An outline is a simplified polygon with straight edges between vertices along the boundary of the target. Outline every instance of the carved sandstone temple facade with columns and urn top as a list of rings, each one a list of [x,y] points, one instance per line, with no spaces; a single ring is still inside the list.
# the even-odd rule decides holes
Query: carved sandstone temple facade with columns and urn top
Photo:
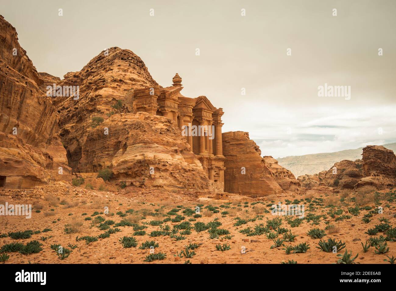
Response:
[[[221,127],[223,108],[214,107],[208,98],[183,96],[179,74],[169,87],[146,87],[133,92],[133,112],[165,116],[179,127],[181,134],[201,162],[214,192],[224,191],[224,161]]]

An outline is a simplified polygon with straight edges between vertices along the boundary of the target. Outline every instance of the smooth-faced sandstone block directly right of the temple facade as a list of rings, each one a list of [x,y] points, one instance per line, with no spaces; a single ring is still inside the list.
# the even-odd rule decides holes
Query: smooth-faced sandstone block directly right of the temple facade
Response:
[[[254,141],[249,139],[249,133],[244,131],[229,131],[222,134],[223,155],[225,161],[225,191],[243,194],[250,197],[262,197],[284,193],[276,181],[276,175],[268,166],[277,169],[278,181],[282,181],[285,188],[289,188],[289,173],[270,163],[267,157],[261,157],[261,150]],[[268,165],[268,166],[267,166]],[[282,173],[282,174],[281,174]],[[285,179],[287,176],[287,179]],[[291,186],[292,187],[292,186]]]

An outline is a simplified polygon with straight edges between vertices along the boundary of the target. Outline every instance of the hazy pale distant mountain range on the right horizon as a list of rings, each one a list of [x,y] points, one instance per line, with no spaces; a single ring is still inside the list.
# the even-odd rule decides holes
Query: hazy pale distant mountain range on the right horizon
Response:
[[[382,145],[389,150],[396,151],[396,143]],[[306,154],[304,156],[288,156],[279,158],[278,164],[290,170],[296,178],[305,174],[316,174],[328,170],[335,162],[342,160],[358,160],[362,158],[363,148],[341,150],[339,152],[324,152],[320,154]]]

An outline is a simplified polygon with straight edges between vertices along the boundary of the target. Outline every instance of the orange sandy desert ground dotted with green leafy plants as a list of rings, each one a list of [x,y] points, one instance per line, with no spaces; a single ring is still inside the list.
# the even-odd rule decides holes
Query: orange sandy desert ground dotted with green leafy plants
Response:
[[[280,264],[289,260],[297,261],[298,264],[332,264],[339,259],[337,253],[327,253],[317,248],[321,239],[327,241],[329,238],[337,241],[341,240],[345,243],[346,247],[339,251],[338,254],[343,255],[345,250],[348,250],[348,252],[352,251],[352,258],[358,254],[354,262],[388,264],[388,262],[384,261],[384,259],[388,259],[386,256],[396,256],[396,243],[392,239],[386,242],[389,250],[383,254],[375,253],[375,245],[370,247],[365,253],[361,244],[366,243],[366,240],[369,240],[370,237],[376,236],[379,238],[381,235],[387,237],[383,231],[371,236],[365,234],[369,228],[376,228],[380,224],[385,224],[383,226],[385,228],[389,227],[386,226],[386,223],[391,226],[390,230],[393,230],[393,232],[388,232],[388,237],[390,233],[395,234],[395,229],[392,228],[396,223],[396,204],[394,201],[396,199],[396,191],[394,190],[382,190],[377,192],[377,195],[374,192],[354,193],[353,191],[330,195],[317,194],[308,197],[282,194],[282,196],[278,197],[265,197],[263,201],[255,201],[252,198],[238,195],[230,195],[227,200],[217,200],[199,197],[196,192],[187,190],[166,191],[128,187],[119,189],[118,192],[104,192],[86,190],[65,184],[59,187],[63,189],[59,193],[66,192],[66,195],[65,193],[59,195],[46,194],[46,187],[42,187],[42,192],[35,196],[36,198],[25,196],[27,198],[4,200],[5,196],[2,196],[3,201],[0,201],[0,204],[8,201],[9,204],[32,204],[34,207],[30,219],[21,216],[0,216],[0,237],[2,237],[0,238],[0,248],[4,250],[7,244],[14,242],[26,244],[31,240],[38,240],[38,242],[42,243],[41,251],[29,255],[5,251],[4,253],[10,256],[5,262],[6,264]],[[29,192],[29,190],[19,191]],[[296,199],[298,201],[295,201]],[[290,204],[304,204],[305,218],[301,221],[296,221],[296,217],[272,215],[271,205],[278,204],[278,202],[282,204],[287,202]],[[356,215],[348,213],[348,207],[355,207],[356,204],[360,204],[359,213],[354,213]],[[383,207],[382,214],[377,213],[375,204],[377,204],[377,207]],[[197,205],[200,207],[200,215],[195,213]],[[211,205],[209,209],[217,213],[209,211],[206,208],[209,205]],[[370,209],[370,207],[366,206],[372,208]],[[105,207],[108,207],[108,214],[106,214],[107,208]],[[370,210],[362,209],[362,207]],[[178,209],[178,211],[169,212],[172,209]],[[331,214],[338,209],[342,209],[342,214]],[[372,214],[369,217],[371,221],[365,223],[362,219],[365,215],[370,216],[367,215],[368,213]],[[169,219],[176,221],[176,215],[182,215],[184,219],[180,222],[167,221]],[[194,215],[196,218],[194,218]],[[103,217],[103,219],[95,219],[98,216]],[[282,219],[282,224],[278,227],[272,227],[271,221],[273,222],[274,219],[275,221]],[[385,221],[383,221],[384,219]],[[128,221],[129,225],[133,226],[117,226],[117,223],[121,221]],[[159,221],[157,222],[159,225],[152,225],[157,224],[156,221]],[[186,226],[188,223],[185,222],[189,222],[190,226]],[[209,222],[221,223],[221,225],[216,228],[214,223],[212,223],[212,227],[208,230],[197,232],[194,229],[194,224],[198,222],[205,223],[206,227],[208,227]],[[296,226],[296,222],[301,223]],[[105,224],[107,223],[110,225],[106,226]],[[246,228],[250,227],[250,234],[254,234],[255,225],[259,224],[262,224],[262,229],[268,225],[268,229],[264,230],[266,233],[247,236],[249,230],[246,230]],[[328,225],[335,226],[331,228],[333,233],[331,233],[331,230],[326,230]],[[145,234],[137,235],[133,230],[134,226],[136,229],[141,228],[145,231]],[[100,227],[103,230],[100,230]],[[84,236],[97,237],[109,231],[109,229],[105,229],[107,227],[109,229],[118,228],[119,231],[110,234],[107,238],[98,238],[94,242],[76,241],[77,236],[79,238]],[[46,228],[50,230],[43,232]],[[69,228],[69,232],[72,233],[67,234],[65,228]],[[189,228],[191,228],[190,231],[188,231]],[[270,235],[269,233],[276,235],[279,232],[285,232],[286,230],[282,231],[282,228],[286,228],[287,231],[291,231],[295,235],[294,241],[284,241],[282,243],[284,246],[271,248],[275,242],[268,238],[267,235]],[[307,232],[313,228],[324,230],[325,236],[321,239],[308,236]],[[174,233],[172,232],[173,229],[175,229]],[[13,239],[5,236],[5,234],[10,232],[25,230],[41,232],[32,234],[30,238],[26,239]],[[213,238],[209,237],[209,231],[212,233]],[[229,234],[227,235],[228,232]],[[150,236],[150,233],[153,235],[158,234],[159,236]],[[220,234],[217,237],[215,233]],[[119,241],[124,236],[133,236],[137,242],[136,247],[124,248]],[[282,239],[283,235],[278,234],[275,240],[278,238]],[[393,240],[396,240],[394,236]],[[166,257],[162,260],[145,262],[146,257],[150,255],[150,249],[140,249],[139,247],[146,241],[158,243],[158,247],[154,248],[154,254],[162,252],[166,254]],[[291,245],[294,247],[299,243],[307,243],[309,249],[305,253],[291,251],[289,255],[286,254],[285,246]],[[51,249],[51,245],[59,244],[63,248],[71,250],[69,257],[63,260],[58,257],[55,250]],[[187,256],[190,256],[188,254],[190,252],[195,254],[186,258],[186,255],[182,254],[181,251],[185,251],[185,246],[190,244],[197,244],[198,247],[188,249]],[[219,251],[216,249],[218,244],[222,246],[226,244],[230,249]],[[243,251],[244,249],[246,252]]]

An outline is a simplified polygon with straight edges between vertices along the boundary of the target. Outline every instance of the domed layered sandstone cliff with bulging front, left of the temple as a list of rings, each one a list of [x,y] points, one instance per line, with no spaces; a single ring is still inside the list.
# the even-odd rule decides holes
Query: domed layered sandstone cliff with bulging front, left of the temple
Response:
[[[80,94],[77,100],[56,97],[61,137],[74,172],[110,168],[114,183],[207,188],[202,165],[171,120],[131,113],[132,90],[161,87],[132,51],[114,47],[101,52],[80,72],[66,74],[59,83],[65,85],[79,86]],[[103,122],[93,124],[92,118]]]

